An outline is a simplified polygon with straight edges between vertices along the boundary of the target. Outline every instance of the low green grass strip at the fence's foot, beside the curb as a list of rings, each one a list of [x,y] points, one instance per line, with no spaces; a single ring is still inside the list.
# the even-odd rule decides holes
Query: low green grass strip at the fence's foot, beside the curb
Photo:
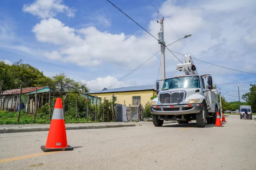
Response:
[[[48,114],[49,115],[49,114]],[[34,115],[27,115],[24,111],[20,113],[20,121],[17,122],[18,112],[0,111],[0,124],[50,124],[47,117],[40,117],[37,114],[36,121],[33,122]],[[65,117],[65,123],[95,123],[94,121],[87,121],[86,118]]]

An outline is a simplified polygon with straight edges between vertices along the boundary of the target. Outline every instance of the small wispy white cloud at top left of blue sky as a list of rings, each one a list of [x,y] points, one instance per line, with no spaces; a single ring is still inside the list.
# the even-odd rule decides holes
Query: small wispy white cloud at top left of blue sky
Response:
[[[65,13],[69,17],[74,17],[77,10],[63,5],[62,2],[62,0],[36,0],[32,4],[25,4],[22,10],[42,19],[51,18],[57,13]]]

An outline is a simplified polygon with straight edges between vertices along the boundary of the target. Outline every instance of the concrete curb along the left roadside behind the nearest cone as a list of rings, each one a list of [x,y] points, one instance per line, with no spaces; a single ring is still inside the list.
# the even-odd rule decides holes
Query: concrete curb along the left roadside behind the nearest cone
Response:
[[[123,128],[123,127],[133,127],[133,126],[135,126],[135,124],[67,126],[66,130]],[[0,128],[0,134],[19,133],[19,132],[36,132],[36,131],[49,131],[49,127]]]

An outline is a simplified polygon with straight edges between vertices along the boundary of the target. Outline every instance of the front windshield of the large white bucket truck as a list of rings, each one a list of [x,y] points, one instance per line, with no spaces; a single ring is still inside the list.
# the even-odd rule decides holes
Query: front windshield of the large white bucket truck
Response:
[[[184,76],[166,79],[162,90],[177,88],[200,88],[199,76]]]

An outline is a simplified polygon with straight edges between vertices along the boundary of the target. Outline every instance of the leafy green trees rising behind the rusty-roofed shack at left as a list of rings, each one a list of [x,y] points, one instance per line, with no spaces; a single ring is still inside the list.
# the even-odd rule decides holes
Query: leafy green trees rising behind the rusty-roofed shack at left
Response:
[[[11,66],[0,61],[0,81],[4,80],[2,90],[10,90],[19,88],[21,82],[22,87],[43,87],[49,86],[57,91],[79,91],[88,92],[89,89],[81,81],[70,79],[64,73],[59,73],[52,78],[47,77],[36,67],[30,64],[24,64],[23,60],[13,63]]]

